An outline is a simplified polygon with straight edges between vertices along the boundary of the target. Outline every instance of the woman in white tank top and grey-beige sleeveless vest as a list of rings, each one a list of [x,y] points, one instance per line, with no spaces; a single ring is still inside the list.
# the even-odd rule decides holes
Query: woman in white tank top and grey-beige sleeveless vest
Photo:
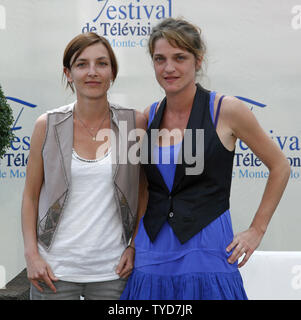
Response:
[[[140,171],[129,161],[120,165],[131,142],[119,137],[144,128],[145,117],[108,101],[118,66],[105,38],[75,37],[63,66],[77,100],[37,119],[23,193],[31,299],[119,299],[133,267],[127,244]]]

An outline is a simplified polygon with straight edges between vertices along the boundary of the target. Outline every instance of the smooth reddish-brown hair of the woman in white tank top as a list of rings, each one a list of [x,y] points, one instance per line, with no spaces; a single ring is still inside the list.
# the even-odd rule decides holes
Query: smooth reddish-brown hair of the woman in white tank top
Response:
[[[116,56],[114,54],[114,51],[109,43],[109,41],[99,36],[95,32],[87,32],[82,33],[73,38],[67,45],[65,51],[64,51],[64,57],[63,57],[63,66],[69,70],[71,70],[71,67],[73,63],[76,61],[76,59],[79,57],[79,55],[89,46],[92,46],[94,44],[101,43],[103,44],[106,49],[108,50],[111,67],[112,67],[112,74],[113,74],[113,81],[115,81],[118,73],[118,63]],[[73,61],[71,63],[72,57]],[[66,79],[65,74],[63,73],[63,79]],[[72,83],[69,83],[67,81],[66,87],[70,87],[72,92],[74,92],[74,87]]]

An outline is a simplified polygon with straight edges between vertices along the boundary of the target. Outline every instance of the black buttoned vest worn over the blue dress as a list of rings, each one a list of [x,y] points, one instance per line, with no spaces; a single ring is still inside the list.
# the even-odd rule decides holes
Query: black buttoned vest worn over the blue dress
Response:
[[[152,161],[152,148],[157,139],[156,135],[152,137],[151,130],[160,127],[166,98],[146,132],[141,160],[148,179],[149,200],[143,221],[152,242],[166,220],[180,242],[184,243],[229,209],[234,151],[228,151],[219,140],[210,115],[209,100],[209,92],[197,84],[186,128],[191,129],[187,132],[192,132],[192,135],[189,137],[187,132],[184,134],[171,192]],[[191,175],[187,174],[187,169],[193,168],[195,164],[191,164],[191,159],[186,161],[184,150],[187,144],[185,141],[192,136],[192,156],[199,154],[195,143],[196,129],[204,130],[201,153],[204,168],[201,174]]]

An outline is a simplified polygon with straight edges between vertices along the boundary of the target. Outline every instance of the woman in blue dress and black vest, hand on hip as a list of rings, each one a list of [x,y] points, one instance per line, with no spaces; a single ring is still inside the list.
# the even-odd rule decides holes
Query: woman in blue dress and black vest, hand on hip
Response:
[[[195,83],[205,54],[197,27],[163,20],[152,30],[149,52],[166,96],[145,110],[149,199],[121,299],[247,299],[238,267],[261,242],[289,164],[246,105]],[[238,138],[270,174],[250,227],[234,236],[229,197]]]

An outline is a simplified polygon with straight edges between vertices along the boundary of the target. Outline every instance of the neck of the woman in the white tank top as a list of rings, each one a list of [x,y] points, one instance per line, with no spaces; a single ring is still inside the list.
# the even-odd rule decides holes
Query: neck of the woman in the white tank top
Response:
[[[108,106],[107,97],[101,99],[77,97],[75,111],[81,119],[93,122],[93,120],[101,118],[107,112]]]

